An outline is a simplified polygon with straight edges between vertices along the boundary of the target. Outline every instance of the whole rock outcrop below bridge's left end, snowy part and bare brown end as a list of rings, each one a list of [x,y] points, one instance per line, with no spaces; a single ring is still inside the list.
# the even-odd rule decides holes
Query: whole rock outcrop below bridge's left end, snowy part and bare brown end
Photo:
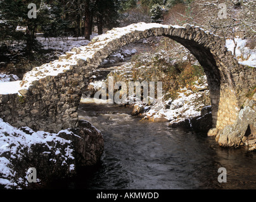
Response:
[[[2,119],[0,145],[0,189],[40,189],[72,177],[79,167],[98,163],[104,147],[101,132],[87,121],[55,134],[13,128]],[[29,182],[30,168],[36,169],[35,182]]]

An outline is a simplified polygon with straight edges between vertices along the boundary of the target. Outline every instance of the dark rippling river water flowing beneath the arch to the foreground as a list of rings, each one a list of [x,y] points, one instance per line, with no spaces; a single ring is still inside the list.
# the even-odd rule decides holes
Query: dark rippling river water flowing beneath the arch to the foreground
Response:
[[[79,114],[103,133],[105,151],[70,189],[256,188],[256,153],[221,148],[206,134],[167,123],[141,122],[127,107],[81,104]],[[227,170],[226,183],[217,180],[220,167]]]

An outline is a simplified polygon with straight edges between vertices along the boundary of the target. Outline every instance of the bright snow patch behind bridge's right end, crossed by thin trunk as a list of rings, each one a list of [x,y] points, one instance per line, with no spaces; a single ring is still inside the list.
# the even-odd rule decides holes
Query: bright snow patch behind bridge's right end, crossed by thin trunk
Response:
[[[240,64],[252,66],[256,68],[256,49],[249,49],[246,47],[246,39],[235,38],[236,46],[236,58]],[[234,41],[232,39],[226,40],[227,50],[231,50],[234,54]]]

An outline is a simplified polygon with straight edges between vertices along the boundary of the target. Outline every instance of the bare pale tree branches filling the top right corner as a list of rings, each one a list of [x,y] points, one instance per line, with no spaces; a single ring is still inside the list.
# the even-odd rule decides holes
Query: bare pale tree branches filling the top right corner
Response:
[[[226,16],[222,16],[221,3]],[[236,31],[245,30],[246,37],[256,33],[256,2],[233,1],[224,2],[196,0],[190,4],[191,20],[194,25],[214,32],[221,37],[234,37]],[[188,21],[188,23],[190,23]]]

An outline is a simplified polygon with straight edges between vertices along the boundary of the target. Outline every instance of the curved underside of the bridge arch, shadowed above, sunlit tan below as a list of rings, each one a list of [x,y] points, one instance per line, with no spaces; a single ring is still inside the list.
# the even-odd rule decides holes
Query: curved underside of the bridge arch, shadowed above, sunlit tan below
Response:
[[[227,124],[233,124],[238,115],[238,100],[234,94],[233,82],[229,82],[226,72],[222,71],[220,59],[194,40],[167,37],[186,47],[203,67],[210,90],[213,128],[222,129]]]

